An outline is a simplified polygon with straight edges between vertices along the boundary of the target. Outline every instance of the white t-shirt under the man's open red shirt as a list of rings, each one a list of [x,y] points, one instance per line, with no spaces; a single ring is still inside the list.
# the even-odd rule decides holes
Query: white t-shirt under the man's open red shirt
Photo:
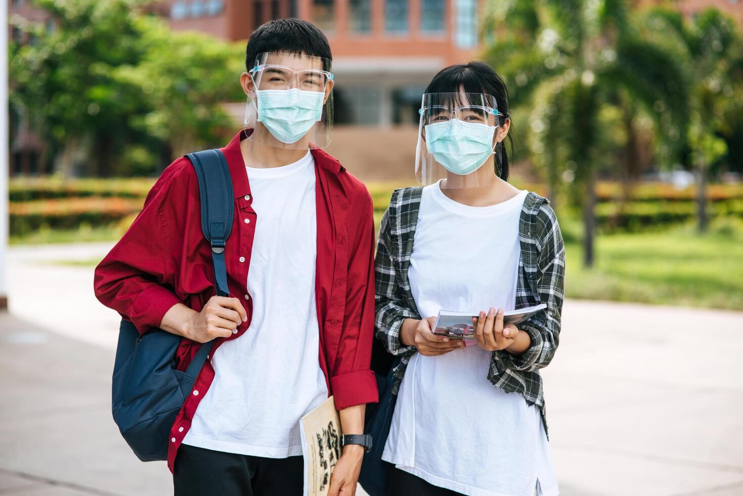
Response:
[[[328,397],[315,306],[314,158],[246,168],[257,216],[247,277],[253,318],[214,353],[214,381],[184,444],[285,458],[302,454],[299,418]]]

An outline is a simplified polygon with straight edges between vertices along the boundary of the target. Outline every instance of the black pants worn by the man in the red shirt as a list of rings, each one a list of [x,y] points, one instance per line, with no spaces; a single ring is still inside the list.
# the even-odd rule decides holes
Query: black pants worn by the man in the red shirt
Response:
[[[262,458],[181,445],[175,496],[302,496],[302,457]]]

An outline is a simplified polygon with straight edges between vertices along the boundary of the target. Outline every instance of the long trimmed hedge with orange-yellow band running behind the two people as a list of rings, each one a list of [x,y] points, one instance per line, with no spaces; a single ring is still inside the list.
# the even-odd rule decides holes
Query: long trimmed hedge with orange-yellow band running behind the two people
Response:
[[[13,178],[10,181],[10,233],[24,236],[42,226],[74,229],[123,222],[139,212],[154,178],[74,179]],[[399,184],[369,184],[378,220]],[[543,193],[542,184],[516,184]],[[712,184],[708,188],[711,216],[743,217],[743,184]],[[629,202],[622,185],[597,185],[597,225],[603,232],[640,231],[645,228],[685,222],[696,216],[694,187],[678,190],[667,184],[639,184]],[[577,215],[577,213],[574,213]]]

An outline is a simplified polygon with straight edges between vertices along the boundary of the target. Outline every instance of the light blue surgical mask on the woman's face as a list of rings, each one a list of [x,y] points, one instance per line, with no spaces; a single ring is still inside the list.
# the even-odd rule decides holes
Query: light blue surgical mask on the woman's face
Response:
[[[475,172],[493,155],[496,126],[453,119],[426,126],[426,148],[450,173]]]

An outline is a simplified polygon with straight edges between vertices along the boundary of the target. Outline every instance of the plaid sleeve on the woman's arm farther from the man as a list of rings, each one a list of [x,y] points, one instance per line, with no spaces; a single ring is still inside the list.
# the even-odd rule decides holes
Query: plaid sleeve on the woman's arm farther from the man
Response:
[[[536,216],[539,245],[539,274],[537,292],[547,308],[537,312],[519,329],[528,332],[531,345],[521,355],[495,352],[507,368],[531,372],[546,367],[554,357],[559,344],[562,318],[562,300],[565,286],[565,244],[562,242],[557,217],[548,205],[543,205]]]

